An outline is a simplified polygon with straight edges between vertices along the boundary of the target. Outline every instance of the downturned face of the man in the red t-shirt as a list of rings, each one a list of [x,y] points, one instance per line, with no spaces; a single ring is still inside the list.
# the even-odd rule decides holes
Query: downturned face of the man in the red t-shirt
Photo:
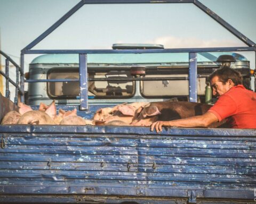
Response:
[[[219,81],[219,77],[215,76],[211,80],[212,94],[213,96],[220,97],[225,94],[230,88],[230,84],[228,82],[222,83]]]

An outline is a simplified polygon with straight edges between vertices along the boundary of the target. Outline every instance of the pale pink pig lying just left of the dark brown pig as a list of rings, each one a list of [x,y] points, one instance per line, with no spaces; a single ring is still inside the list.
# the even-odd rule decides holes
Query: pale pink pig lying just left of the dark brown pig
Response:
[[[137,110],[147,104],[144,102],[125,103],[113,108],[101,108],[94,114],[93,121],[96,125],[129,125],[133,121],[134,116],[137,115]],[[110,123],[111,121],[116,122]]]

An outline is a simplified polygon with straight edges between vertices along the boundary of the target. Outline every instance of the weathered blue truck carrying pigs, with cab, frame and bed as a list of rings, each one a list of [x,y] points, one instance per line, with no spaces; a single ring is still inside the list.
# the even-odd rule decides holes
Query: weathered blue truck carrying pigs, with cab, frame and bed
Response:
[[[181,1],[170,1],[174,2]],[[186,2],[207,10],[196,0]],[[238,69],[251,88],[250,63],[236,52],[255,52],[255,44],[226,22],[220,23],[249,47],[31,50],[87,3],[93,2],[79,2],[23,49],[21,66],[1,52],[17,67],[20,81],[12,81],[8,69],[1,71],[8,83],[15,84],[16,94],[14,103],[8,86],[5,97],[0,95],[0,119],[18,109],[19,94],[35,109],[41,102],[55,100],[57,109],[77,108],[84,118],[101,107],[124,102],[214,103],[207,76],[225,63]],[[35,58],[29,73],[23,73],[24,55],[38,53],[45,55]],[[29,83],[28,92],[24,82]],[[156,133],[135,126],[0,125],[0,202],[254,203],[255,135],[255,129],[169,128]]]

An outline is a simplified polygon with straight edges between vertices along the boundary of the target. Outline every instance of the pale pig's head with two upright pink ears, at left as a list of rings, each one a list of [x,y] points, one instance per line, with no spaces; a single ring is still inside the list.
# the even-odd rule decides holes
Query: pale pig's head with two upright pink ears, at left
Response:
[[[21,117],[17,124],[31,124],[31,125],[54,125],[54,118],[56,117],[56,106],[54,101],[47,106],[46,111],[33,111],[30,106],[19,104],[19,112]]]

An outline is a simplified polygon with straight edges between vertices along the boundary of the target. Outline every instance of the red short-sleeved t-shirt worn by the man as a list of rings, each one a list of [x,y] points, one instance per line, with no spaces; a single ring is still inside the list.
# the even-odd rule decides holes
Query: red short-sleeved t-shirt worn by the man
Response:
[[[227,118],[231,128],[256,129],[256,93],[238,85],[219,97],[209,109],[219,121]]]

